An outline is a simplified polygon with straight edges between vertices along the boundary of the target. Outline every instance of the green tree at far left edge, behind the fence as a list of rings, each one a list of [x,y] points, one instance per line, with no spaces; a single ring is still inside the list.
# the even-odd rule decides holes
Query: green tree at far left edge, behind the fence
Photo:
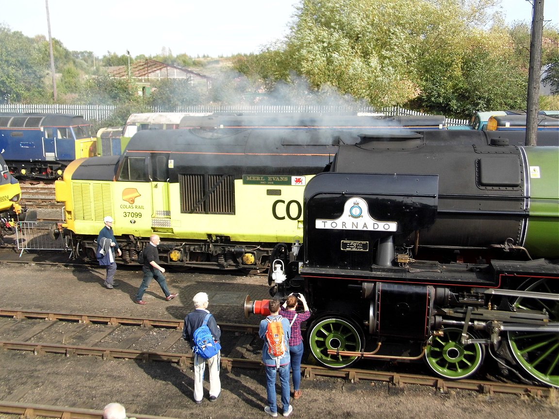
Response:
[[[42,102],[48,63],[33,39],[0,24],[0,100]]]

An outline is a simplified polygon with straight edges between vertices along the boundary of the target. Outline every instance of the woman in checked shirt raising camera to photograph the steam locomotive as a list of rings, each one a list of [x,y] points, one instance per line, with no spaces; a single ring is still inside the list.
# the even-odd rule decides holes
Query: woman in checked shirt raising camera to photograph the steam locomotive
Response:
[[[297,313],[297,299],[303,304],[304,312]],[[301,358],[303,356],[303,337],[301,336],[301,323],[311,316],[309,306],[303,294],[289,294],[280,310],[280,315],[289,320],[291,337],[289,338],[289,354],[291,356],[291,371],[293,373],[293,398],[301,397],[299,389],[301,384]]]

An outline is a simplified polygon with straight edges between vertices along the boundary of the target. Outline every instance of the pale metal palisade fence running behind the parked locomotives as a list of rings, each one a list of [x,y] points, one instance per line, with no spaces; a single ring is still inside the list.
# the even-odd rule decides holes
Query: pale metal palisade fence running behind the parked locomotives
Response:
[[[21,104],[8,103],[0,104],[0,112],[41,112],[41,113],[69,113],[71,115],[81,115],[86,120],[103,121],[111,117],[115,111],[114,105],[75,105],[75,104]],[[151,112],[169,112],[169,109],[157,106],[150,108]],[[269,105],[269,106],[250,106],[250,105],[196,105],[179,106],[174,112],[235,112],[235,113],[383,113],[387,116],[398,115],[429,115],[424,112],[413,111],[401,107],[388,107],[375,109],[373,107],[357,107],[349,105]],[[467,125],[468,120],[458,120],[447,118],[447,125]]]

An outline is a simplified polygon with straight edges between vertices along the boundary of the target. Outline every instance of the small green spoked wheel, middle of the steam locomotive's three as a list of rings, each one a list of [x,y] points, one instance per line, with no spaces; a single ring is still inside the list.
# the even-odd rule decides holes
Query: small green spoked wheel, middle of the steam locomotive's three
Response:
[[[470,377],[483,363],[485,349],[480,344],[462,345],[462,330],[446,328],[443,336],[433,336],[425,360],[441,377],[458,380]]]

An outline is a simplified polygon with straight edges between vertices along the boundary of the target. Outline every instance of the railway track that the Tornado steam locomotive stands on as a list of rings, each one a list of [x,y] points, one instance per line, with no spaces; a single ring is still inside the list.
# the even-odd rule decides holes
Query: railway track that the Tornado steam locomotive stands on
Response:
[[[262,368],[261,342],[257,326],[220,323],[222,329],[221,368]],[[257,339],[255,339],[257,338]],[[185,353],[182,321],[176,319],[138,318],[57,313],[42,311],[0,310],[0,347],[6,350],[54,353],[65,356],[93,355],[103,359],[164,361],[181,369],[192,365],[192,354]],[[255,342],[255,340],[257,340]],[[482,394],[524,394],[549,397],[551,390],[538,385],[501,383],[489,380],[444,380],[427,375],[394,373],[347,368],[331,370],[321,366],[301,365],[305,379],[335,377],[359,382],[374,380],[402,388],[419,384],[440,392],[463,389]]]

